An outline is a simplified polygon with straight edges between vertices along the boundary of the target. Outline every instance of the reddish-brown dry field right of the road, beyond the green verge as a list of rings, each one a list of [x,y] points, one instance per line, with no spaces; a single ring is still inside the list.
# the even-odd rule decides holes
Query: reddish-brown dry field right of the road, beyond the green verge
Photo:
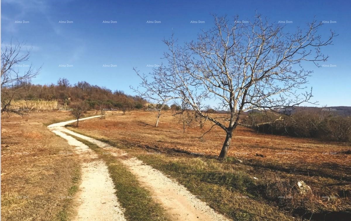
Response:
[[[152,126],[155,120],[153,112],[133,111],[125,115],[115,112],[105,120],[87,120],[81,122],[78,129],[71,129],[128,147],[142,147],[149,152],[218,156],[225,138],[219,127],[199,139],[210,128],[210,123],[203,129],[188,128],[183,133],[178,117],[172,116],[170,111],[164,113],[157,128]],[[259,180],[267,179],[270,173],[290,182],[303,180],[313,191],[311,201],[326,211],[339,211],[351,209],[350,149],[350,143],[275,136],[238,127],[228,156],[243,160],[246,172]],[[323,196],[335,198],[330,201]]]

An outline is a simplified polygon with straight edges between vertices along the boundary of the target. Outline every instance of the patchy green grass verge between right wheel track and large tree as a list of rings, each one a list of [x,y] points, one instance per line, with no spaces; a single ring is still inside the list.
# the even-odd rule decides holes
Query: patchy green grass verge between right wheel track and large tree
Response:
[[[77,130],[74,131],[87,136]],[[277,206],[270,205],[256,193],[255,188],[259,187],[259,184],[244,172],[245,169],[241,168],[243,165],[237,164],[235,158],[218,160],[206,157],[194,158],[186,154],[181,156],[147,154],[148,150],[143,148],[125,147],[115,141],[89,137],[124,149],[128,154],[176,179],[216,212],[233,220],[292,220],[291,215],[280,212]],[[85,140],[76,139],[87,144]]]

